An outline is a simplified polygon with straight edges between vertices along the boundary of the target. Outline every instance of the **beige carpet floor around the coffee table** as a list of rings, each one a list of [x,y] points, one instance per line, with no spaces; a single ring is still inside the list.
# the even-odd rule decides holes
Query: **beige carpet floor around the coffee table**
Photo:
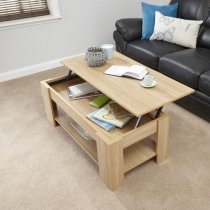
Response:
[[[209,210],[210,124],[170,104],[169,159],[150,160],[111,192],[97,166],[48,123],[39,81],[58,68],[0,83],[0,209]]]

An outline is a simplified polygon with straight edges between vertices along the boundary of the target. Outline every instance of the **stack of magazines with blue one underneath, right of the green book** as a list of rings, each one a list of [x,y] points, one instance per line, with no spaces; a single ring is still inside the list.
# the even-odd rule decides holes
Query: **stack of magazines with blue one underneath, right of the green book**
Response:
[[[106,131],[111,131],[116,127],[122,128],[132,117],[131,113],[113,101],[87,115],[88,119]]]

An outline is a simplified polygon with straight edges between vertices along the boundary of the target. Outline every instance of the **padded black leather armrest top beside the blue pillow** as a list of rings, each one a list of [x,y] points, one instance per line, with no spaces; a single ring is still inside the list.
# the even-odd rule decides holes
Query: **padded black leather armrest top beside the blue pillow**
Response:
[[[120,19],[115,24],[117,31],[123,39],[131,42],[141,38],[142,19],[141,18],[126,18]]]

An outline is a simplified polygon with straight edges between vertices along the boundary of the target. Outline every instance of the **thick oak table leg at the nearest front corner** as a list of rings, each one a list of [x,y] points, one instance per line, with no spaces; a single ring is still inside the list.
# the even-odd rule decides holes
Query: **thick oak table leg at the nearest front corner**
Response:
[[[99,174],[103,182],[115,190],[124,183],[124,161],[122,142],[107,144],[97,142]]]

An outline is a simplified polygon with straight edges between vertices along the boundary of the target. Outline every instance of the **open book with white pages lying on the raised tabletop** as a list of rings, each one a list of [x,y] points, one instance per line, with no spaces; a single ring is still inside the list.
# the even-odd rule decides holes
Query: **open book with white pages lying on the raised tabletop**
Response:
[[[144,66],[139,65],[133,65],[129,67],[113,65],[108,68],[104,73],[118,77],[130,77],[142,80],[144,76],[148,73],[148,71],[146,71]]]

